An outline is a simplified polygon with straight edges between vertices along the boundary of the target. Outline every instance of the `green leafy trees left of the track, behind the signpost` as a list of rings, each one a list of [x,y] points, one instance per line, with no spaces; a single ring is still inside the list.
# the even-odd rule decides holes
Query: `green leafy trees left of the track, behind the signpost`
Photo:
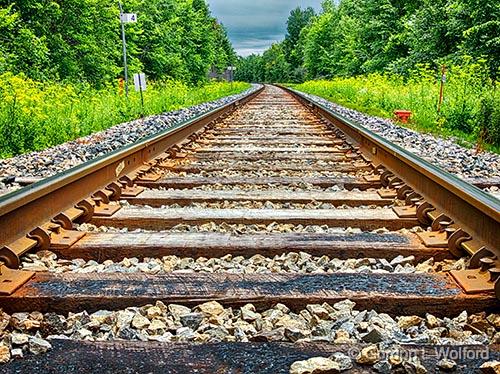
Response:
[[[204,0],[124,0],[131,73],[190,84],[222,71],[236,54]],[[103,87],[123,76],[115,0],[0,0],[0,75]]]

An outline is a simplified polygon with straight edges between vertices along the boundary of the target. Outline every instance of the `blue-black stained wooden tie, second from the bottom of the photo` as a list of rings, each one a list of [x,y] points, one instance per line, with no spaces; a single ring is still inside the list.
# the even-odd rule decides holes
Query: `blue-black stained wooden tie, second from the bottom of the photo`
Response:
[[[164,303],[195,306],[218,301],[226,307],[253,303],[259,310],[283,303],[294,311],[308,304],[354,301],[359,309],[393,315],[454,316],[498,310],[493,293],[466,295],[440,274],[208,274],[37,273],[10,296],[7,313],[25,310],[69,313]]]

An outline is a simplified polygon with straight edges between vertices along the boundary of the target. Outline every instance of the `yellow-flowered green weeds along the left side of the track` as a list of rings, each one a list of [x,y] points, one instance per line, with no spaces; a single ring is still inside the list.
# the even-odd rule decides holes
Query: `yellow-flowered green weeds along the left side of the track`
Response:
[[[181,82],[151,83],[144,92],[144,114],[159,114],[249,88],[247,83],[211,82],[189,87]],[[129,100],[115,86],[102,90],[86,85],[36,82],[0,75],[0,158],[41,150],[116,124],[139,118],[140,94]]]

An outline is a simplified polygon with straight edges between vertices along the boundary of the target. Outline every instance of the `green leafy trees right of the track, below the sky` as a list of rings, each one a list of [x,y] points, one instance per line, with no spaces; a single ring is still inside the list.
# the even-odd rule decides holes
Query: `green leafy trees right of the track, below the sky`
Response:
[[[293,10],[285,39],[242,58],[236,78],[302,82],[375,72],[408,75],[482,60],[500,68],[500,6],[494,0],[327,0]]]

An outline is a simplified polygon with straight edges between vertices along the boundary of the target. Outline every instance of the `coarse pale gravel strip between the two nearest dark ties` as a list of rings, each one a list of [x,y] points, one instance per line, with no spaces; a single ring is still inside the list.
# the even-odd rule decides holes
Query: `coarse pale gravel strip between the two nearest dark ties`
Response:
[[[0,311],[0,362],[51,348],[50,340],[156,341],[156,342],[327,342],[371,343],[374,349],[394,344],[494,344],[500,341],[500,315],[461,313],[455,318],[391,317],[359,311],[344,300],[330,305],[308,305],[294,313],[283,304],[258,311],[253,304],[224,308],[216,301],[194,308],[181,305],[130,307],[59,315]],[[366,348],[365,348],[366,349]],[[370,357],[368,352],[359,355]],[[374,364],[365,361],[365,364]],[[421,372],[421,371],[420,371]]]

